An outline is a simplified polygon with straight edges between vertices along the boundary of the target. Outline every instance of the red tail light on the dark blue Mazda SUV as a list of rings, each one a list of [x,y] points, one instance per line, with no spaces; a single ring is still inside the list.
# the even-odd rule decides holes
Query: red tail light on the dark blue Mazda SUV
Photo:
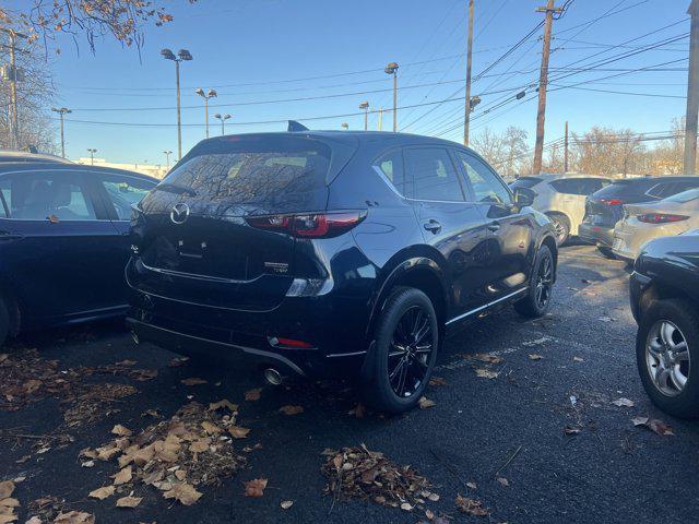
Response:
[[[286,233],[301,238],[331,238],[348,231],[364,218],[366,211],[296,213],[293,215],[250,216],[246,222],[258,229]]]

